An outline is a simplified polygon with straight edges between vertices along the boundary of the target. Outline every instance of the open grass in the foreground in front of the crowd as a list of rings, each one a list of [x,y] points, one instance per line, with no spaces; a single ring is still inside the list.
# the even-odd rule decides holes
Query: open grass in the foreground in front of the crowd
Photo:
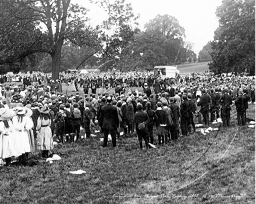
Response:
[[[148,151],[136,137],[102,149],[99,133],[58,145],[59,162],[0,167],[0,203],[255,203],[255,128],[236,127],[233,116],[217,133]],[[80,169],[86,174],[69,173]]]

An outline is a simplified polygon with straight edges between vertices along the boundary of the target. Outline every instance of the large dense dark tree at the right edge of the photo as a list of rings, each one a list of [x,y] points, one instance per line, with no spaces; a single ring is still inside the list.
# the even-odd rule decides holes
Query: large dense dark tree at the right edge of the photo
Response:
[[[211,42],[213,62],[209,69],[255,75],[255,1],[224,0],[216,15],[219,27]]]

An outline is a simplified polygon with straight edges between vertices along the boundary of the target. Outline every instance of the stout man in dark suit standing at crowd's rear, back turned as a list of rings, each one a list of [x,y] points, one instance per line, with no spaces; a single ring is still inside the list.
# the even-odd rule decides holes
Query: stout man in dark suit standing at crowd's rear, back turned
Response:
[[[102,107],[99,115],[99,126],[104,134],[103,147],[108,145],[108,134],[111,134],[113,147],[116,147],[116,134],[119,126],[118,110],[111,104],[112,98],[106,99],[107,104]]]

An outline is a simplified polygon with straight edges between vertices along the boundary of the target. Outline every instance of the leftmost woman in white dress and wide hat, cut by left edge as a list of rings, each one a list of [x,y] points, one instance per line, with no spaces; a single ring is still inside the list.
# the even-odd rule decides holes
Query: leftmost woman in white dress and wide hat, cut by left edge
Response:
[[[5,159],[6,166],[10,165],[12,158],[20,156],[16,151],[12,134],[12,117],[15,112],[9,109],[0,109],[0,159]]]

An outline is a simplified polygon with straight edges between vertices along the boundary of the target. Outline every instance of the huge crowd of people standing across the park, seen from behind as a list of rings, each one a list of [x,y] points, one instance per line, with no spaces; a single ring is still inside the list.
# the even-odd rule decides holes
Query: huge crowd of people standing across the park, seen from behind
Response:
[[[206,127],[218,118],[229,127],[232,105],[237,124],[244,126],[248,103],[255,103],[255,77],[232,74],[193,73],[163,80],[151,73],[94,73],[29,82],[0,85],[0,159],[7,166],[12,158],[23,163],[35,149],[47,158],[54,138],[62,144],[77,142],[82,139],[81,127],[86,138],[99,128],[102,148],[108,146],[110,134],[113,147],[117,139],[137,136],[143,149],[143,140],[150,148],[193,134],[199,115]],[[63,92],[65,83],[72,92]],[[102,87],[107,91],[99,91]]]

